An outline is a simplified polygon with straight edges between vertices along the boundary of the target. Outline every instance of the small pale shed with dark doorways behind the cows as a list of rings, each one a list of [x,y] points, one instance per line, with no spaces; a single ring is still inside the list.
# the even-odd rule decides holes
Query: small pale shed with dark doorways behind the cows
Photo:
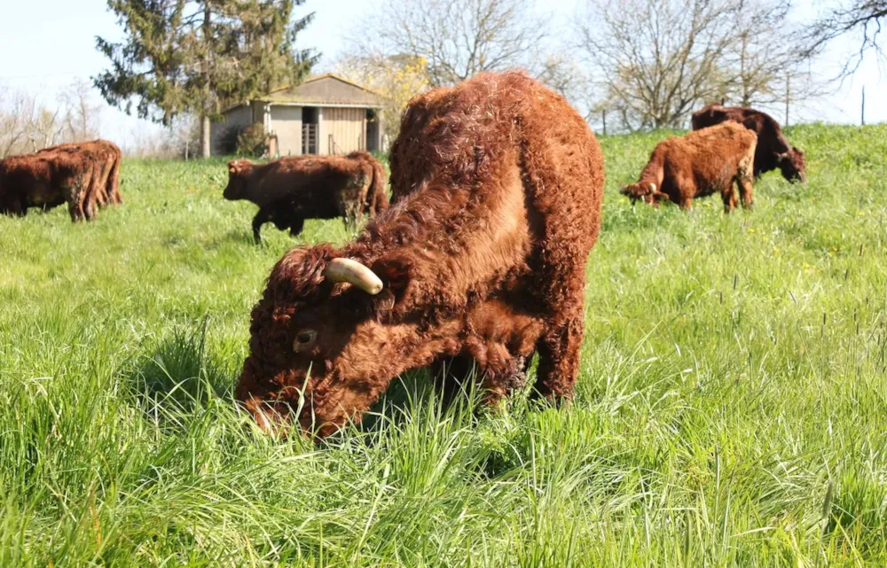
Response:
[[[253,124],[269,135],[272,157],[381,151],[383,104],[379,94],[334,74],[312,77],[225,111],[211,127],[212,153],[231,152],[239,131]]]

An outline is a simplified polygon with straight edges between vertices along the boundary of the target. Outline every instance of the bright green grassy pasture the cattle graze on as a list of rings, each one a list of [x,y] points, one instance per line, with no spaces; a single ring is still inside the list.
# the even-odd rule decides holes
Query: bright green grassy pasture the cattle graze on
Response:
[[[224,160],[124,160],[123,206],[0,218],[0,566],[887,565],[887,125],[789,128],[754,211],[632,206],[602,139],[576,400],[442,410],[425,371],[324,445],[232,403],[302,237]]]

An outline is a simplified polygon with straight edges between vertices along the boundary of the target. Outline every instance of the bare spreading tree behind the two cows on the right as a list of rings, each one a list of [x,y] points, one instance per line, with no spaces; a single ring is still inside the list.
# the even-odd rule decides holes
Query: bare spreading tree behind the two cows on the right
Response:
[[[624,128],[680,127],[722,94],[734,9],[731,0],[590,0],[580,47],[624,106]]]

